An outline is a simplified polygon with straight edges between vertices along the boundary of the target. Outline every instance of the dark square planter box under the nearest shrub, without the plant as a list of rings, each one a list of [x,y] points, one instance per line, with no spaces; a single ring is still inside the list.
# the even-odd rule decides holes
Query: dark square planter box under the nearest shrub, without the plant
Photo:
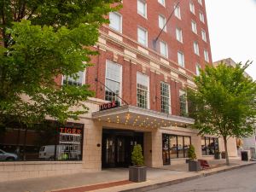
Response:
[[[146,166],[130,166],[129,167],[129,181],[144,182],[147,180]]]

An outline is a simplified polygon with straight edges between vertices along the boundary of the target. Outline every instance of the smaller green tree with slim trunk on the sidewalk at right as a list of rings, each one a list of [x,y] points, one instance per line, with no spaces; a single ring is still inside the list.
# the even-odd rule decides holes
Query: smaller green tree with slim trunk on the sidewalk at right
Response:
[[[226,164],[230,165],[227,141],[230,137],[247,137],[253,133],[256,112],[256,84],[245,77],[247,62],[236,67],[221,63],[206,67],[195,77],[197,90],[188,90],[189,112],[199,134],[224,138]]]

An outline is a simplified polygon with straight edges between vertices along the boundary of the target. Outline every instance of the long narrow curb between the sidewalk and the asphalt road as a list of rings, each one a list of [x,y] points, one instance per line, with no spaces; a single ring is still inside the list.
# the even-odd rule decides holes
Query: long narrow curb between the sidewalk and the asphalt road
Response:
[[[192,177],[184,177],[184,178],[180,178],[180,179],[176,179],[176,180],[172,180],[172,181],[167,181],[167,182],[163,182],[163,183],[156,183],[156,184],[151,184],[148,186],[144,186],[144,187],[139,187],[139,188],[134,188],[134,189],[125,189],[125,190],[120,190],[119,192],[144,192],[144,191],[148,191],[148,190],[154,190],[154,189],[160,189],[166,186],[170,186],[173,184],[177,184],[177,183],[183,183],[186,181],[190,181],[190,180],[194,180],[196,178],[200,178],[200,177],[207,177],[207,176],[211,176],[220,172],[228,172],[231,170],[235,170],[235,169],[239,169],[245,166],[253,166],[256,163],[250,163],[250,164],[245,164],[245,165],[240,165],[240,166],[233,166],[233,167],[229,167],[223,170],[218,170],[218,171],[213,171],[213,172],[204,172],[201,173],[201,175],[196,175],[196,176],[192,176]]]

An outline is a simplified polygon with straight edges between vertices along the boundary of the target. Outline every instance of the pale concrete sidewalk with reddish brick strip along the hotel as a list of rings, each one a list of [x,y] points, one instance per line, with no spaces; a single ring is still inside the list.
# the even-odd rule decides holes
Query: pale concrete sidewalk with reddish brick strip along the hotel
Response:
[[[231,166],[219,166],[202,172],[187,172],[187,164],[148,168],[148,180],[144,183],[128,181],[128,169],[107,169],[102,172],[77,173],[60,177],[33,178],[14,182],[0,183],[2,192],[84,192],[84,191],[144,191],[156,189],[173,183],[180,183],[195,177],[204,177],[216,172],[224,172],[255,162],[230,160]],[[210,160],[212,164],[223,164],[223,160]],[[134,189],[134,190],[132,190]]]

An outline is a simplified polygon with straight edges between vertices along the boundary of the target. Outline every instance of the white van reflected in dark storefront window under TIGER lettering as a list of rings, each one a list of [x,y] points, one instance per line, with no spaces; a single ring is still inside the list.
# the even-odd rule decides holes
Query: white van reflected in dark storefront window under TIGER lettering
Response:
[[[79,160],[79,145],[56,145],[56,160]],[[39,150],[39,159],[54,160],[55,145],[45,145]]]

